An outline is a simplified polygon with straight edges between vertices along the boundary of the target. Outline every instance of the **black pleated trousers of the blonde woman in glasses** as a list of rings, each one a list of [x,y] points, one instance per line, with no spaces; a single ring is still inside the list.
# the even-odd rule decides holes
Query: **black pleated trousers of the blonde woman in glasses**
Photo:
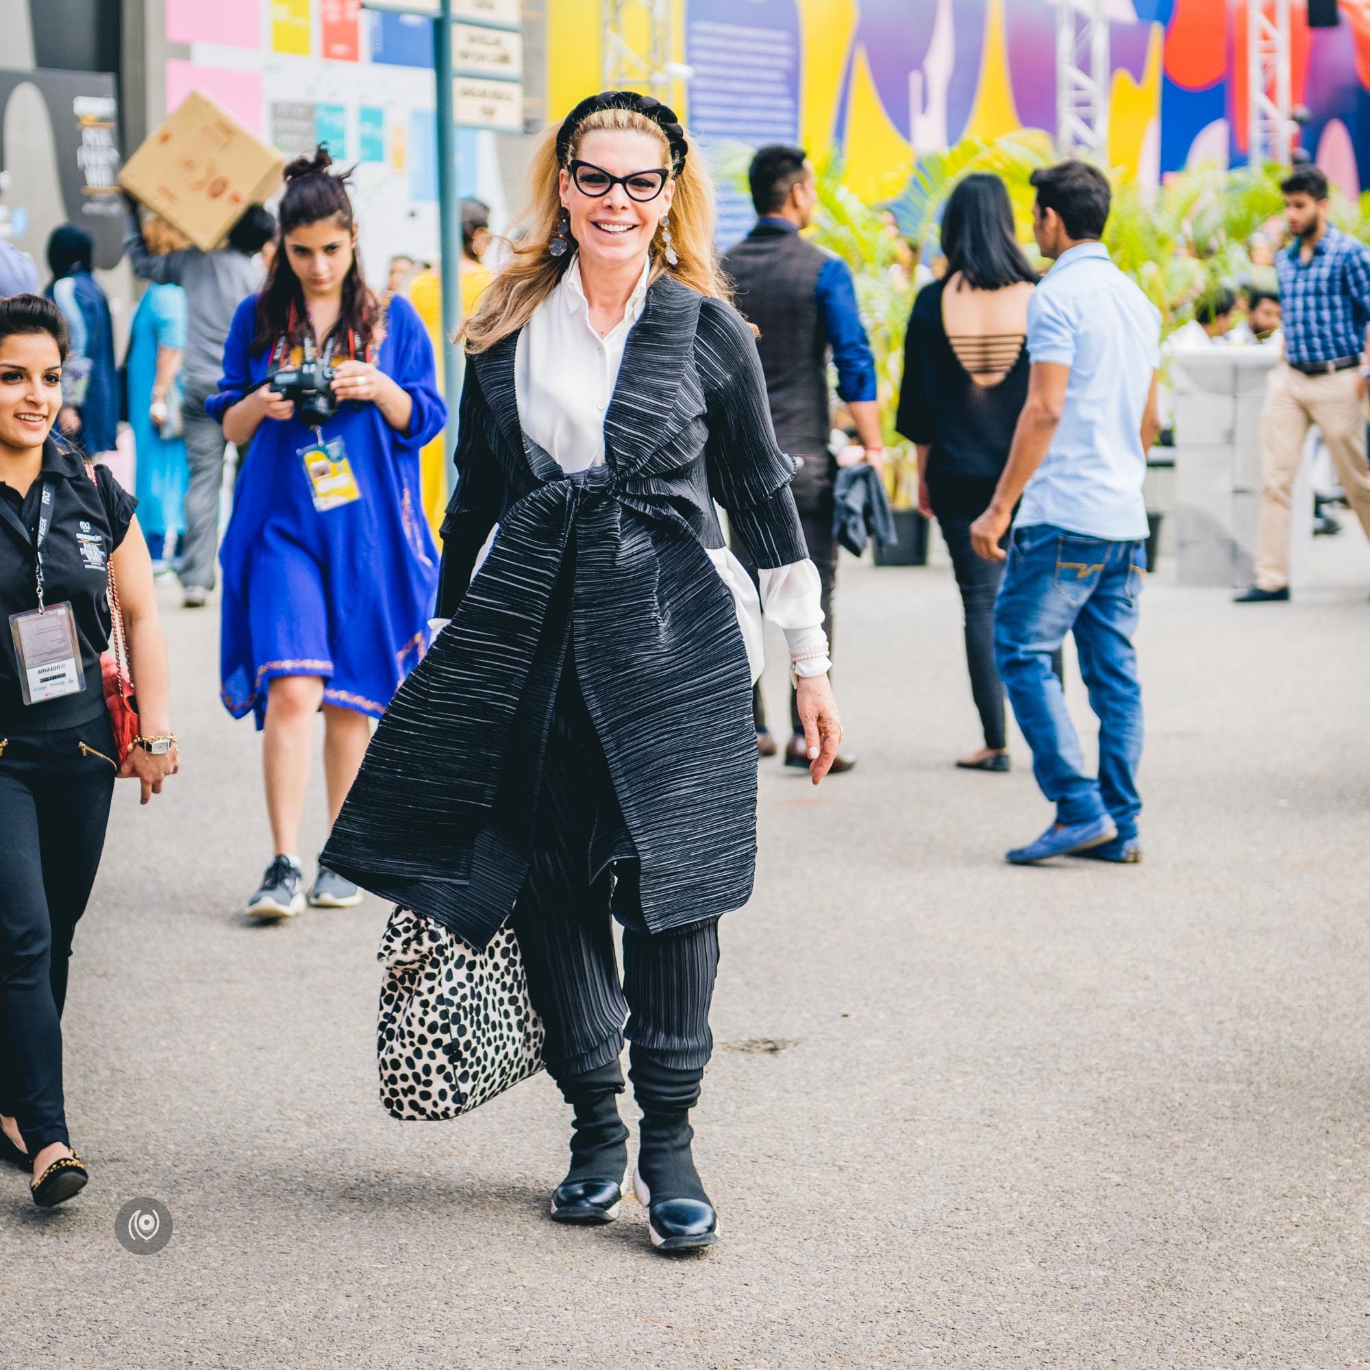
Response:
[[[718,919],[649,933],[637,892],[637,859],[567,653],[533,856],[514,904],[529,997],[547,1028],[543,1058],[558,1082],[618,1060],[625,1019],[634,1058],[703,1070],[712,1055]],[[622,980],[612,918],[623,925]]]

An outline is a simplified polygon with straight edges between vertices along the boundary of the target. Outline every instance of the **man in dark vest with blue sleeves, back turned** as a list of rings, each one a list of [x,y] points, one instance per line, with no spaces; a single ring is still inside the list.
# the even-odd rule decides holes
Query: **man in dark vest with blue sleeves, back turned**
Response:
[[[827,359],[837,370],[837,393],[851,412],[866,460],[884,458],[875,359],[856,308],[856,286],[847,263],[801,238],[818,207],[818,177],[803,148],[762,148],[749,171],[756,226],[723,256],[723,270],[737,289],[737,307],[760,330],[756,340],[766,373],[771,422],[781,449],[801,462],[795,475],[795,503],[804,525],[808,555],[818,567],[829,651],[833,640],[833,589],[837,543],[833,538],[833,469],[829,452],[832,406]],[[734,540],[734,549],[754,573],[755,562]],[[754,693],[756,747],[775,751],[766,729],[760,690]],[[808,766],[804,727],[790,697],[786,766]],[[833,773],[856,759],[838,752]]]

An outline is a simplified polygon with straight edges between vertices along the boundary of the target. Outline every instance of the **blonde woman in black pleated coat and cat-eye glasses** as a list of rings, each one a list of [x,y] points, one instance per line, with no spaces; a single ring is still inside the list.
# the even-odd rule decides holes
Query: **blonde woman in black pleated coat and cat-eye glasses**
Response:
[[[634,1188],[653,1245],[685,1251],[718,1238],[689,1111],[718,918],[751,895],[756,851],[760,604],[715,499],[786,629],[815,784],[841,726],[795,462],[717,274],[701,159],[669,108],[611,90],[548,132],[532,199],[466,334],[451,623],[386,711],[325,859],[475,948],[512,910],[575,1114],[562,1222],[618,1214],[627,1021]]]

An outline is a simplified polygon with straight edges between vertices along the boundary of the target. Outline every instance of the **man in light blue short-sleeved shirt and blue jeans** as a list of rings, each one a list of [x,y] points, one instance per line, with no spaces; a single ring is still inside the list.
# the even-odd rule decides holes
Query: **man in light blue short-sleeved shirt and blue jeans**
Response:
[[[981,556],[1008,558],[995,658],[1037,784],[1056,806],[1056,822],[1008,860],[1077,854],[1132,863],[1141,860],[1143,736],[1132,636],[1147,564],[1141,484],[1159,427],[1160,314],[1099,241],[1111,199],[1104,174],[1063,162],[1034,171],[1032,184],[1033,233],[1056,264],[1028,306],[1032,379],[1008,464],[971,527]],[[1085,774],[1051,669],[1070,632],[1099,715],[1097,778]]]

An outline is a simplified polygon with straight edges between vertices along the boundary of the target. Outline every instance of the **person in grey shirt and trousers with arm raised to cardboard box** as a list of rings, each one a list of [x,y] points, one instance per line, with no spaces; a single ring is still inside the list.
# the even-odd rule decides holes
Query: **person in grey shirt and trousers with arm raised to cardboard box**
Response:
[[[186,338],[181,363],[185,384],[185,455],[190,482],[185,492],[185,536],[178,549],[186,608],[207,603],[214,589],[219,551],[219,489],[223,485],[223,429],[204,412],[204,401],[219,389],[223,341],[233,311],[262,285],[255,262],[275,237],[275,218],[253,204],[229,230],[225,247],[201,252],[196,247],[158,256],[142,241],[136,203],[129,200],[129,232],[123,251],[134,275],[185,289]]]

